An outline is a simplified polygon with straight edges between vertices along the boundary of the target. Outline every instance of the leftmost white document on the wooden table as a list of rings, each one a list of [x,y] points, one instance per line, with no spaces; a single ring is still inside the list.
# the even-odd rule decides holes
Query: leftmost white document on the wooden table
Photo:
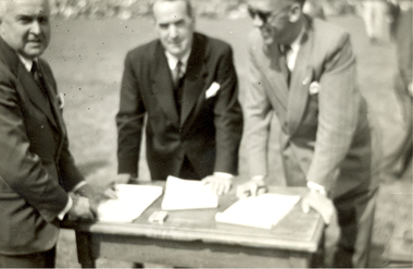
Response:
[[[162,195],[162,186],[117,184],[116,199],[99,204],[98,219],[111,222],[133,222],[158,197]]]

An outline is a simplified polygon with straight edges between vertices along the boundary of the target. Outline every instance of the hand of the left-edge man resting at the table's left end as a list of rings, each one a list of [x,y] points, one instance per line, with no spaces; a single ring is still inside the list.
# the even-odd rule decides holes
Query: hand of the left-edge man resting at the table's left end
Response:
[[[98,216],[97,207],[89,198],[79,195],[71,195],[73,205],[67,212],[68,220],[88,219],[93,220]]]

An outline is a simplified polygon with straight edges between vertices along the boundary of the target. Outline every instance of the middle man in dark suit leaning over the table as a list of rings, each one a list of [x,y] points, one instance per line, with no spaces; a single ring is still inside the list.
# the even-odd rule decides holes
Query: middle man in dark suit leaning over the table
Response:
[[[226,193],[237,173],[242,132],[231,48],[193,32],[187,0],[155,1],[153,16],[159,39],[125,60],[116,115],[118,172],[138,175],[147,117],[152,180],[203,180],[215,193]]]

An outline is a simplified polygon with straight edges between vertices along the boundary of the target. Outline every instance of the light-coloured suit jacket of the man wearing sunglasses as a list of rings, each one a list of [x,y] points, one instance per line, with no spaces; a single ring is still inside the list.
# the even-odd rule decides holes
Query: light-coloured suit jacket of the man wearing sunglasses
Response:
[[[339,196],[371,183],[372,140],[367,109],[356,83],[349,34],[305,16],[289,86],[278,46],[250,35],[250,84],[246,94],[246,143],[252,175],[267,173],[273,111],[281,125],[280,150],[287,182],[312,181]],[[318,93],[311,94],[311,86]]]

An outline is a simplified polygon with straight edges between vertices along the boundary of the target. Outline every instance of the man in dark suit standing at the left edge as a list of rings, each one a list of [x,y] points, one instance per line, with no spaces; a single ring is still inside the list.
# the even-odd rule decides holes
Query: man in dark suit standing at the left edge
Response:
[[[49,14],[47,0],[0,1],[2,268],[54,267],[59,221],[96,215],[96,193],[68,150],[53,74],[39,58],[50,40]]]

